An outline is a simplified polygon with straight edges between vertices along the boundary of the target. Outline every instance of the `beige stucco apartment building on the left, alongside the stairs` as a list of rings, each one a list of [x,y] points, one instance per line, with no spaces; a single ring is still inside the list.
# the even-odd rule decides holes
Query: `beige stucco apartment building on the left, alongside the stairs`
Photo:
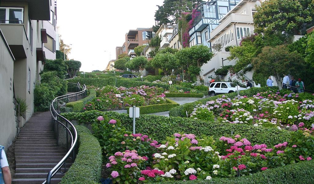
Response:
[[[52,5],[53,6],[53,5]],[[43,69],[45,21],[51,18],[50,0],[2,0],[0,7],[0,145],[8,148],[34,113],[34,89]],[[14,97],[26,100],[24,115],[16,115]]]

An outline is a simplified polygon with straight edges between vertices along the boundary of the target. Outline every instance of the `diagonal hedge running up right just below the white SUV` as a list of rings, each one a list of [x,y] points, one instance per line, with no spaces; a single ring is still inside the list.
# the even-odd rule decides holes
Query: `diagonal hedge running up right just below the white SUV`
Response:
[[[253,95],[256,95],[259,92],[265,92],[265,91],[269,91],[269,90],[278,90],[278,87],[261,87],[261,88],[250,88],[250,89],[246,89],[246,90],[242,90],[239,92],[239,95],[241,96],[248,96],[248,97],[252,97]],[[228,93],[228,94],[223,94],[226,96],[226,98],[235,98],[238,93],[234,92],[234,93]],[[210,101],[210,100],[216,100],[218,98],[222,98],[223,95],[216,95],[214,97],[210,97],[210,98],[205,98],[202,100],[198,100],[192,103],[187,103],[187,104],[183,104],[180,105],[176,108],[173,108],[170,110],[169,115],[170,116],[180,116],[180,117],[186,117],[186,111],[187,110],[193,110],[194,107],[198,104],[205,104],[206,102]]]

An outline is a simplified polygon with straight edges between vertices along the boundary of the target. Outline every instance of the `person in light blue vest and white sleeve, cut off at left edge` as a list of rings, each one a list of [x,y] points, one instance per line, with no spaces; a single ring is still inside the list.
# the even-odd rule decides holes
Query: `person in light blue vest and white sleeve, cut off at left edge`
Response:
[[[11,178],[11,172],[9,169],[9,164],[7,160],[7,156],[4,152],[4,147],[0,145],[0,154],[1,154],[1,160],[0,160],[0,166],[1,166],[1,172],[0,172],[0,184],[11,184],[12,178]]]

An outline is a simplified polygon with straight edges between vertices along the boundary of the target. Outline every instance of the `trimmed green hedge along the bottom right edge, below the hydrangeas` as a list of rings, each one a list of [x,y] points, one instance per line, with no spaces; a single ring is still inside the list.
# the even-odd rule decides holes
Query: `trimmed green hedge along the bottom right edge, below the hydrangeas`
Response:
[[[314,161],[301,161],[296,164],[267,169],[249,176],[213,178],[211,180],[168,181],[163,184],[300,184],[314,183]]]

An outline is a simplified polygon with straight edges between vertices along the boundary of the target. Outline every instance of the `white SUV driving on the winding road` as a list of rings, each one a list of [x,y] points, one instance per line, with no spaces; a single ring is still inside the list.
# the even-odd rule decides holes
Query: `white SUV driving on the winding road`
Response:
[[[245,90],[246,88],[242,88],[238,84],[233,82],[213,82],[209,85],[208,95],[215,96],[219,94],[233,93],[236,92],[237,89],[241,91]]]

